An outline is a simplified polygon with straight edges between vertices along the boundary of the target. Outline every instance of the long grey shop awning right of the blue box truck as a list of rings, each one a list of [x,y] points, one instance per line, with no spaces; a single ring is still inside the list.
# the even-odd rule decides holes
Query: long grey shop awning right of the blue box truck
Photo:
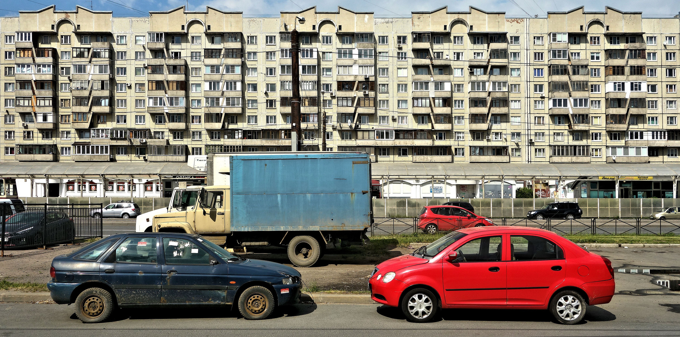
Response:
[[[374,162],[371,174],[377,178],[428,178],[481,179],[579,179],[582,177],[674,177],[680,175],[678,164],[494,164],[494,163],[417,163]],[[597,178],[595,178],[597,179]]]

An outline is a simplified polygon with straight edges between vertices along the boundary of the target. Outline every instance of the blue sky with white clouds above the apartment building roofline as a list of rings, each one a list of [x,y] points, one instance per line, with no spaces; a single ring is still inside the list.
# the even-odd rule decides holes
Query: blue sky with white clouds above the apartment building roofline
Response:
[[[337,10],[342,5],[350,10],[375,12],[376,16],[409,16],[411,11],[435,10],[445,5],[450,11],[464,11],[469,5],[474,4],[482,10],[507,12],[509,16],[545,16],[547,11],[565,11],[585,5],[588,11],[603,11],[605,5],[610,5],[619,10],[640,12],[645,16],[673,16],[680,12],[678,0],[617,0],[617,1],[575,1],[575,0],[475,0],[475,1],[444,1],[444,0],[342,0],[342,1],[315,1],[315,0],[189,0],[190,10],[205,10],[205,6],[216,7],[219,10],[241,11],[244,15],[267,15],[277,14],[280,11],[294,11],[301,8],[316,5],[318,10]],[[150,10],[169,10],[174,7],[185,5],[186,0],[92,0],[94,10],[110,10],[114,16],[146,16]],[[75,5],[90,7],[90,1],[63,0],[54,3],[60,10],[73,10]],[[47,5],[52,5],[47,0],[18,0],[2,1],[0,3],[0,16],[17,16],[18,10],[39,10]],[[521,8],[520,8],[521,7]],[[134,8],[135,10],[131,9]],[[141,11],[141,12],[140,12]]]

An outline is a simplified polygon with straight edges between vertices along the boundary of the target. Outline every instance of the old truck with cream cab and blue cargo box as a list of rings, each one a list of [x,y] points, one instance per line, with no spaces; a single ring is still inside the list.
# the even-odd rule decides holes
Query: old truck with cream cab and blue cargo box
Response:
[[[373,221],[371,160],[354,152],[209,154],[194,207],[155,215],[154,232],[201,234],[226,247],[286,247],[296,266],[327,243],[363,243]],[[228,184],[226,184],[228,182]]]

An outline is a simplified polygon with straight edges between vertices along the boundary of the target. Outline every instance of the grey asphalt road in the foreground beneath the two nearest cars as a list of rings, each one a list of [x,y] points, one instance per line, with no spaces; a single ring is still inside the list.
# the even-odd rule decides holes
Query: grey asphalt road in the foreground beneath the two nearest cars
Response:
[[[645,300],[653,298],[653,300]],[[673,304],[673,307],[657,302]],[[409,323],[379,304],[298,304],[265,321],[228,309],[121,311],[114,321],[83,324],[73,306],[0,304],[2,336],[678,336],[680,296],[615,296],[591,306],[585,322],[558,325],[543,311],[447,310],[439,321]],[[672,310],[672,311],[671,311]],[[675,311],[675,312],[673,312]]]

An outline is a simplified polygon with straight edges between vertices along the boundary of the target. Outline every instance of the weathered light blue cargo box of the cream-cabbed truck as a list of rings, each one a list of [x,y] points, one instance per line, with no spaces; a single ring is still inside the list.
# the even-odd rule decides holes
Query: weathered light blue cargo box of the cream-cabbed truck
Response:
[[[368,154],[228,156],[232,232],[364,230],[371,224]]]

